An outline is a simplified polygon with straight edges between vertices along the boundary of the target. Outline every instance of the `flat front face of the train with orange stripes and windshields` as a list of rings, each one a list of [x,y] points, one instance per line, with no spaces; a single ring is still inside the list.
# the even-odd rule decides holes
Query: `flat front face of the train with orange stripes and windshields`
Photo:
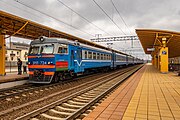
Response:
[[[54,44],[33,45],[28,55],[30,83],[50,83],[55,72]]]

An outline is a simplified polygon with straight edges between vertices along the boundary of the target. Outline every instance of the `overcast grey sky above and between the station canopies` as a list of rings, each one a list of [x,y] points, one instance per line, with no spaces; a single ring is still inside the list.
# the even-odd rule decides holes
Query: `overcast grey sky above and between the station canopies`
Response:
[[[97,34],[136,35],[138,28],[180,31],[179,4],[179,0],[0,0],[0,10],[90,40]],[[139,41],[133,46],[131,41],[113,42],[109,47],[149,59]]]

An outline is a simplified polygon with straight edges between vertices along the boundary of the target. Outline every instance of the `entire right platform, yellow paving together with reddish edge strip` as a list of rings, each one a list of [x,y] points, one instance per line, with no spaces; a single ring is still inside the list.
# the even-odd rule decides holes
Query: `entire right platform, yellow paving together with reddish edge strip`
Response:
[[[180,77],[146,64],[83,120],[180,120]]]

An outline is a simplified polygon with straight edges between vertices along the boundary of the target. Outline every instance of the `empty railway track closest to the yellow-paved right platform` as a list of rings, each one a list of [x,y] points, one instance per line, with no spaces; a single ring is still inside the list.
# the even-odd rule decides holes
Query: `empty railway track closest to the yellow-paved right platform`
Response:
[[[104,98],[119,86],[126,78],[142,66],[132,67],[131,69],[123,70],[114,76],[108,77],[105,80],[91,85],[83,90],[77,91],[67,97],[57,100],[44,107],[29,112],[16,120],[32,119],[32,120],[73,120],[82,116],[91,106]],[[84,116],[86,114],[84,113]]]

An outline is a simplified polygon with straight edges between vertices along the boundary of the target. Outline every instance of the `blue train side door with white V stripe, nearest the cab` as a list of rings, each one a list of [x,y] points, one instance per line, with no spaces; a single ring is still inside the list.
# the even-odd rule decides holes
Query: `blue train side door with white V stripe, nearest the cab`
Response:
[[[82,49],[77,47],[75,51],[75,72],[82,72]]]

